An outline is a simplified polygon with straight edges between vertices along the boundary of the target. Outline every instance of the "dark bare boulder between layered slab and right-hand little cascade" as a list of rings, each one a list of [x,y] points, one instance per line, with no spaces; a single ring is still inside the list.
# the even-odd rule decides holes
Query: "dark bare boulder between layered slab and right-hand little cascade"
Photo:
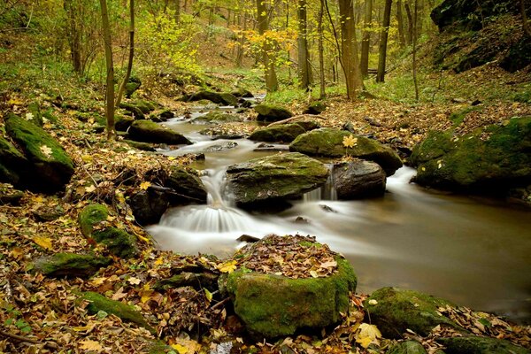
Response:
[[[372,161],[355,159],[341,162],[332,169],[337,198],[341,200],[383,196],[386,175],[380,165]]]

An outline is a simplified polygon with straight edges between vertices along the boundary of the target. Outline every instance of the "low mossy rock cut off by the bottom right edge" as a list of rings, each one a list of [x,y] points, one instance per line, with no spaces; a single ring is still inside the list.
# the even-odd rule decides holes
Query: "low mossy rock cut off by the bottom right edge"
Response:
[[[446,348],[446,354],[529,354],[531,350],[497,338],[465,335],[451,338],[437,338]]]

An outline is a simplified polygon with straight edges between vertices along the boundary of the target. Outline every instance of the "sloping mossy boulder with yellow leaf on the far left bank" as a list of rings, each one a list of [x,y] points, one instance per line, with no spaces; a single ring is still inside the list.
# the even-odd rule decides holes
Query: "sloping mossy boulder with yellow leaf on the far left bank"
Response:
[[[28,189],[50,193],[65,189],[73,175],[73,161],[51,135],[12,113],[7,116],[5,130],[30,162],[32,174],[24,179]],[[17,158],[12,150],[8,154]]]

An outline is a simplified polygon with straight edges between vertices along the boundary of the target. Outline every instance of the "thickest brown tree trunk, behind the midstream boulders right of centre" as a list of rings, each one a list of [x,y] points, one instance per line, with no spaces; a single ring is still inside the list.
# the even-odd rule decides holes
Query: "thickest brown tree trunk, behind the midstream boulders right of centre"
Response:
[[[356,41],[352,0],[339,0],[339,18],[342,35],[341,60],[347,84],[347,97],[354,101],[358,96],[358,90],[363,86],[363,82],[359,73],[358,42]]]

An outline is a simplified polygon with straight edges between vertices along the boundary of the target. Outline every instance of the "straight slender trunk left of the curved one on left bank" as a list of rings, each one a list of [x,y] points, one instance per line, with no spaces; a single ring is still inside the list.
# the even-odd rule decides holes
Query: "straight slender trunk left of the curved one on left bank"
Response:
[[[107,140],[111,140],[112,135],[116,133],[114,128],[114,65],[112,63],[111,27],[109,25],[109,13],[107,12],[107,0],[100,0],[100,5],[104,29],[105,65],[107,67],[105,117],[107,119]]]

